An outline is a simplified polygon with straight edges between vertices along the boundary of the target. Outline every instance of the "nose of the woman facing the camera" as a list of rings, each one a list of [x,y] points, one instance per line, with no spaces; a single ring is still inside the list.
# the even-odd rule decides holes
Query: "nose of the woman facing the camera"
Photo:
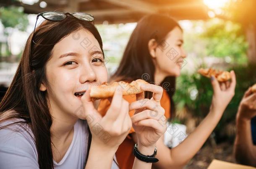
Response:
[[[86,68],[84,66],[81,67],[81,76],[79,77],[79,82],[81,84],[86,82],[94,82],[97,80],[96,73],[91,66],[86,66]]]

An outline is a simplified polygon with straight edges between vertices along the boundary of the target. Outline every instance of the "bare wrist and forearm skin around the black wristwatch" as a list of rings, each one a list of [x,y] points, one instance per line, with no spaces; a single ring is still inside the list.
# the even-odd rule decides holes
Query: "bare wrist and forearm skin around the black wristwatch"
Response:
[[[141,152],[141,154],[144,155],[152,155],[154,153],[155,146],[152,147],[142,147],[140,143],[138,143],[138,151]],[[151,169],[152,163],[146,163],[144,161],[141,161],[135,157],[133,162],[133,169]]]

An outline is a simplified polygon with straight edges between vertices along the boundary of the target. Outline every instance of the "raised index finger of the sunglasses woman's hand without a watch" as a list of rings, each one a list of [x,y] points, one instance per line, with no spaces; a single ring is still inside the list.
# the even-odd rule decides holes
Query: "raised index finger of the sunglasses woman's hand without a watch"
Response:
[[[123,94],[120,90],[115,90],[114,96],[112,98],[112,102],[110,104],[110,108],[108,109],[104,118],[115,121],[120,113],[120,105],[122,105]]]

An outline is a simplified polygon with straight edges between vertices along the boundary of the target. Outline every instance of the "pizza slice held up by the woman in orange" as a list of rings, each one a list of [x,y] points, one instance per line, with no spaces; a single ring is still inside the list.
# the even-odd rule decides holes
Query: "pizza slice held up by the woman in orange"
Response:
[[[203,76],[206,76],[207,78],[211,78],[211,76],[214,76],[219,82],[225,82],[231,79],[230,72],[220,71],[213,68],[209,68],[209,69],[200,68],[198,70],[198,73],[200,73]]]

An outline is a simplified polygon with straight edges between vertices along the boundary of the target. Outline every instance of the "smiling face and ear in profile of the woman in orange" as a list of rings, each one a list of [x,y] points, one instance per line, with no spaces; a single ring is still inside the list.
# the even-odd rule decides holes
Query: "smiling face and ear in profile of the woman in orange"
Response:
[[[162,76],[180,76],[184,58],[183,32],[179,27],[172,29],[161,44],[149,41],[149,52],[154,58],[156,73]]]

